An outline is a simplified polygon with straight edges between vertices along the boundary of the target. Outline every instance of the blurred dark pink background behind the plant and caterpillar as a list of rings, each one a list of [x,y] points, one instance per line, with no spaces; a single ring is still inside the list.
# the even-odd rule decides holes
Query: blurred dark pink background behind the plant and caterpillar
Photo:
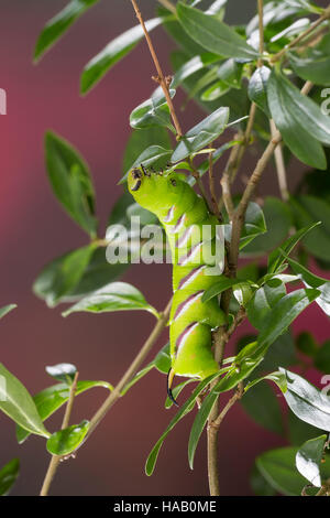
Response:
[[[0,87],[8,93],[8,115],[0,117],[0,306],[15,302],[19,307],[1,321],[0,360],[32,393],[53,382],[44,370],[45,365],[61,361],[77,365],[80,379],[117,382],[154,324],[153,317],[142,312],[77,314],[63,319],[63,306],[47,309],[31,290],[47,261],[87,242],[51,192],[44,168],[44,132],[55,130],[88,161],[103,230],[111,205],[121,192],[116,184],[122,174],[129,115],[154,88],[150,78],[153,65],[141,43],[86,98],[78,95],[84,65],[108,41],[136,23],[129,1],[97,4],[34,66],[32,54],[37,34],[66,3],[64,0],[1,1]],[[140,3],[145,18],[151,18],[155,2]],[[251,8],[251,2],[246,4],[246,9]],[[168,73],[167,53],[174,44],[162,29],[154,32],[154,41]],[[185,116],[186,129],[200,115],[190,104]],[[277,195],[273,176],[268,175],[263,188]],[[169,298],[168,266],[135,266],[124,280],[142,289],[158,309]],[[326,317],[314,304],[299,317],[295,330],[312,328],[316,337],[323,341],[326,326]],[[238,335],[246,331],[249,327],[242,326]],[[165,332],[151,357],[166,341]],[[73,422],[90,418],[106,396],[102,389],[80,396]],[[165,377],[151,373],[113,407],[79,450],[77,458],[59,467],[52,494],[207,495],[204,439],[193,472],[187,462],[193,416],[166,440],[155,474],[144,475],[145,458],[174,413],[164,409],[164,400]],[[59,420],[61,413],[48,421],[48,429],[56,430]],[[19,446],[14,425],[3,414],[0,414],[0,466],[14,456],[21,460],[21,475],[13,494],[37,494],[50,461],[44,440],[30,438]],[[221,493],[251,494],[248,478],[255,455],[280,444],[285,444],[283,439],[264,431],[237,406],[220,432]]]

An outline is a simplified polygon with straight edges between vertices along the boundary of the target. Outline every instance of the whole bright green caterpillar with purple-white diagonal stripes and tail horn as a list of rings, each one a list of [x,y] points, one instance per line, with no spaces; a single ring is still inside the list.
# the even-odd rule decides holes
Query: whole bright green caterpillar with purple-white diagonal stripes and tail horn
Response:
[[[175,375],[204,379],[219,370],[211,350],[211,331],[223,325],[226,316],[217,298],[201,302],[205,290],[221,277],[215,255],[219,222],[204,198],[174,172],[151,173],[135,168],[128,184],[134,199],[158,217],[170,247],[174,295],[167,391],[174,401],[170,385]],[[202,234],[206,228],[207,238]]]

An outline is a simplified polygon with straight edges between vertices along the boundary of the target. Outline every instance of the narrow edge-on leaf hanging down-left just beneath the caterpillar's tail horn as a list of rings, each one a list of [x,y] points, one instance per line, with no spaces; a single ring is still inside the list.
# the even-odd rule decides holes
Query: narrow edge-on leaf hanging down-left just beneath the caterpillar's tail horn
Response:
[[[200,384],[198,384],[198,386],[196,387],[196,389],[194,390],[191,396],[187,399],[187,401],[185,401],[185,403],[180,407],[178,412],[174,416],[174,418],[169,422],[168,427],[166,428],[165,432],[161,435],[161,438],[158,439],[158,441],[154,445],[153,450],[151,451],[151,453],[150,453],[150,455],[146,460],[146,463],[145,463],[145,473],[146,473],[146,475],[150,476],[150,475],[153,474],[154,468],[155,468],[155,464],[157,462],[160,450],[161,450],[161,447],[163,445],[163,442],[165,441],[166,436],[168,435],[168,433],[174,429],[174,427],[178,423],[178,421],[180,421],[188,412],[190,412],[194,409],[195,401],[196,401],[197,397],[208,386],[208,384],[212,379],[215,379],[217,376],[218,376],[218,373],[215,374],[213,376],[209,376],[208,378],[204,379]]]

